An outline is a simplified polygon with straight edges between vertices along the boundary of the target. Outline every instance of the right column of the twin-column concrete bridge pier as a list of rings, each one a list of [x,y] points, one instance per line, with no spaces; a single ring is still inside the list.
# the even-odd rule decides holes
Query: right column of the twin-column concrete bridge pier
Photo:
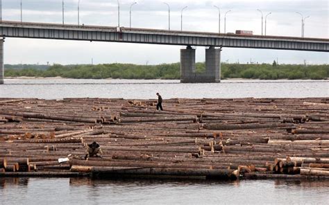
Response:
[[[221,48],[205,49],[205,73],[208,82],[221,82]]]

